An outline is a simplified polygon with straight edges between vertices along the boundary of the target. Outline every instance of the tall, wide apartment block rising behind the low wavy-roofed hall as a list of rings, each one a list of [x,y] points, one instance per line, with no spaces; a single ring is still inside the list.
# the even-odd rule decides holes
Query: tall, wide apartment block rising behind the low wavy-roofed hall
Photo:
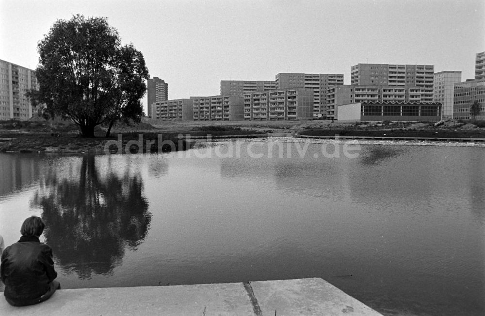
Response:
[[[421,101],[433,102],[434,65],[357,64],[351,84],[420,87]]]

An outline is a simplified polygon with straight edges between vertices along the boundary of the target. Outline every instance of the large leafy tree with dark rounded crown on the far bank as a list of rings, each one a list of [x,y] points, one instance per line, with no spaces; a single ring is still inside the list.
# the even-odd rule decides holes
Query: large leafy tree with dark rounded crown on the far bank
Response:
[[[145,59],[132,44],[121,45],[106,18],[57,20],[37,48],[40,87],[29,97],[34,106],[44,105],[45,117],[70,118],[84,137],[94,137],[99,124],[109,125],[109,136],[120,119],[140,121],[149,78]]]

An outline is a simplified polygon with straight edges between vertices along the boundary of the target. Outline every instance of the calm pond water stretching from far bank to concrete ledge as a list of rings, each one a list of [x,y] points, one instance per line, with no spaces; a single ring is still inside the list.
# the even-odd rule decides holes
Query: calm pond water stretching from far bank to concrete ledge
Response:
[[[0,233],[42,216],[63,288],[321,277],[385,314],[483,315],[485,148],[353,153],[0,154]]]

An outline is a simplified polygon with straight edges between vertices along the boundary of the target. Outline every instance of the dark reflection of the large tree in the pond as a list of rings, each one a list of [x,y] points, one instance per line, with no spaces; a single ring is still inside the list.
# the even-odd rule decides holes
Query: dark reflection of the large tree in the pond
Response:
[[[136,249],[145,238],[151,220],[141,175],[109,170],[101,177],[94,156],[82,157],[79,179],[47,175],[33,203],[43,210],[56,263],[81,279],[111,274],[125,248]]]

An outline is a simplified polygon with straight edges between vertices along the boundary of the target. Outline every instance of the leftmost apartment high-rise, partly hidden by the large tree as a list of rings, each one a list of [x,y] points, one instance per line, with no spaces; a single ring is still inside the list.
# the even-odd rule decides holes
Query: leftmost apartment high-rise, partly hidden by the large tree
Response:
[[[0,119],[27,120],[32,104],[25,93],[38,89],[35,71],[0,60]]]

